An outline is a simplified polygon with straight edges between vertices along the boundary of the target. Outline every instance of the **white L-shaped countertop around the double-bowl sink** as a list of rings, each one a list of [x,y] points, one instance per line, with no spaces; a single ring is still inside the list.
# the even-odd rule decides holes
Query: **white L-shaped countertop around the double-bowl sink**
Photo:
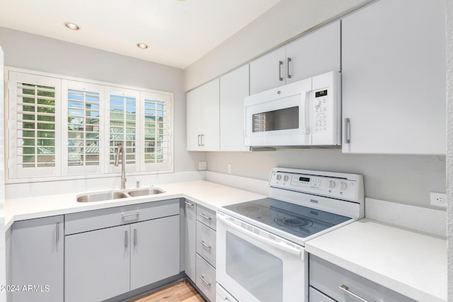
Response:
[[[77,202],[76,197],[79,194],[83,194],[82,192],[6,199],[5,226],[8,229],[14,221],[25,219],[120,207],[128,204],[154,202],[180,197],[190,199],[214,211],[227,204],[236,204],[265,197],[254,192],[203,180],[173,182],[161,184],[156,187],[161,188],[165,193],[146,197],[106,200],[103,202]]]

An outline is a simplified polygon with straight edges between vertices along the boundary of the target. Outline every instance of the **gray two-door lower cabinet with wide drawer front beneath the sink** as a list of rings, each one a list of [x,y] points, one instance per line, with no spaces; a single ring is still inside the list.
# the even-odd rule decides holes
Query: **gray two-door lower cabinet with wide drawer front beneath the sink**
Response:
[[[103,301],[179,274],[179,204],[67,215],[64,301]]]

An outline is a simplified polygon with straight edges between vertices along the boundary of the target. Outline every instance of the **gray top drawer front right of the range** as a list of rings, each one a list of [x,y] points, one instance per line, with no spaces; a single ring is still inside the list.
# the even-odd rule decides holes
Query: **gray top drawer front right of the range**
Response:
[[[309,258],[310,286],[338,302],[351,301],[352,294],[360,296],[367,301],[415,302],[411,298],[398,294],[396,291],[387,289],[319,257],[310,255]],[[347,286],[348,291],[352,294],[343,291],[340,286]]]

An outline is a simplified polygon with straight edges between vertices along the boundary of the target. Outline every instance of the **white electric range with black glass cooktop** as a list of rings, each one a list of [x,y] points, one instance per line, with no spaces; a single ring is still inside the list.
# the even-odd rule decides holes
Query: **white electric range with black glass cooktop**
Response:
[[[308,301],[306,240],[365,216],[362,175],[273,168],[269,185],[217,211],[217,301]]]

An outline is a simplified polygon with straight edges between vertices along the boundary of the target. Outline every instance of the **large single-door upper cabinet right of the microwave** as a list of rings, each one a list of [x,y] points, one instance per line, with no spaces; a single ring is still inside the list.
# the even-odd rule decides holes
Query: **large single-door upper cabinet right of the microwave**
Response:
[[[343,19],[344,153],[445,154],[444,2],[382,0]]]

